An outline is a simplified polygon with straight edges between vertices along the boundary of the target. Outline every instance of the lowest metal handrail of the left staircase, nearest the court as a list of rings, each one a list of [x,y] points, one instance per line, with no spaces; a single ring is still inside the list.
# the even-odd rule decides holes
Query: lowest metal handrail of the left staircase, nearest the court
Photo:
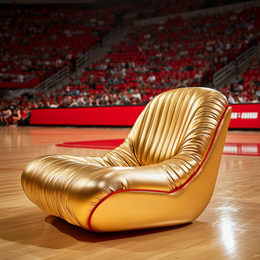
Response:
[[[50,76],[48,79],[44,80],[36,87],[33,88],[33,97],[36,97],[37,92],[45,92],[47,89],[54,86],[56,83],[60,82],[61,80],[69,77],[69,67],[66,66],[61,69],[59,72],[55,73],[54,75]]]

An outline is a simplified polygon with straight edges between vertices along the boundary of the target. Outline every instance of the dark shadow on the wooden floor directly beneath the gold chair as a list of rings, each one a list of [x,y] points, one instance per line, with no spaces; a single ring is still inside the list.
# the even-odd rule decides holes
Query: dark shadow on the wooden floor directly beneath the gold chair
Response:
[[[122,232],[94,233],[79,228],[77,226],[74,226],[72,224],[69,224],[66,221],[52,215],[47,216],[45,218],[45,222],[51,224],[63,234],[69,235],[78,241],[91,242],[91,243],[110,241],[110,240],[129,238],[129,237],[138,237],[138,236],[150,235],[154,233],[161,233],[165,231],[181,229],[192,224],[192,222],[190,222],[183,225],[170,226],[164,228],[142,229],[142,230],[132,230],[132,231],[122,231]]]

